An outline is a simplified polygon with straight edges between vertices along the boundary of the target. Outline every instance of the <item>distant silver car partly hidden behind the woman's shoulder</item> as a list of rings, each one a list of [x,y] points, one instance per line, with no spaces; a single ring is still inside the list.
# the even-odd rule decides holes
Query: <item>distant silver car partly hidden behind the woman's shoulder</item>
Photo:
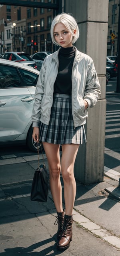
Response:
[[[37,61],[37,62],[38,62],[38,63],[37,63],[37,68],[38,68],[38,70],[41,69],[42,63],[43,63],[43,61],[44,61],[44,58],[45,58],[47,55],[51,54],[51,53],[53,53],[53,52],[36,52],[36,53],[34,53],[33,55],[31,55],[32,59],[33,59],[34,61]]]

